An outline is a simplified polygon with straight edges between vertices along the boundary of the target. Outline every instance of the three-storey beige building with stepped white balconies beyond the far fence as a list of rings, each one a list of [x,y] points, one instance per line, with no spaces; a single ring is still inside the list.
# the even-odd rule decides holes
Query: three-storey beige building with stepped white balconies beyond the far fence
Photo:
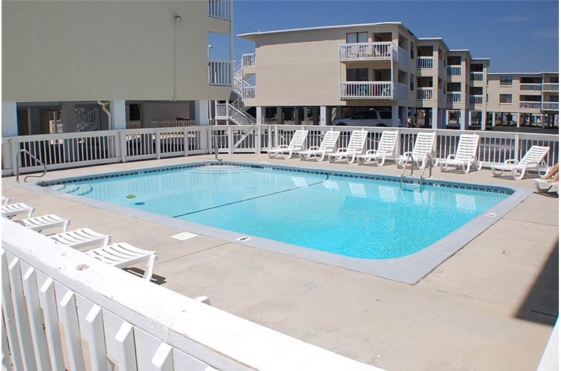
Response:
[[[401,22],[238,36],[255,42],[255,53],[243,56],[237,78],[243,81],[238,85],[244,104],[256,107],[258,123],[273,118],[330,125],[373,109],[391,111],[393,126],[405,126],[408,118],[433,128],[494,125],[490,118],[498,110],[487,101],[495,94],[490,59],[450,50],[442,38],[417,37]],[[556,76],[543,75],[550,89],[542,94],[547,102],[555,101]],[[518,108],[517,113],[527,110]]]

